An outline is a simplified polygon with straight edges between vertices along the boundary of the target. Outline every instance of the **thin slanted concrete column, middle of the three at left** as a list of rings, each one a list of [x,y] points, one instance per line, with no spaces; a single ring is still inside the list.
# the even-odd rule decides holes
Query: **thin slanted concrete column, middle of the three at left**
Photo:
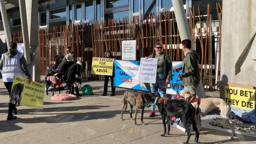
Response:
[[[27,60],[27,63],[31,63],[30,57],[30,47],[29,47],[29,40],[28,40],[28,23],[27,23],[27,15],[26,15],[26,5],[24,0],[19,0],[20,6],[20,19],[21,19],[21,27],[22,27],[22,37],[23,37],[23,44],[24,44],[24,56]]]

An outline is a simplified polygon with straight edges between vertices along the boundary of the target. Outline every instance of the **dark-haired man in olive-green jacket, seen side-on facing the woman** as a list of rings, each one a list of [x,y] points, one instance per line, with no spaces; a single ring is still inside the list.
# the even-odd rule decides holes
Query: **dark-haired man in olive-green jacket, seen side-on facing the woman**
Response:
[[[196,89],[200,83],[200,71],[198,60],[200,56],[195,50],[191,50],[191,40],[182,40],[182,50],[186,53],[183,60],[182,67],[175,68],[178,72],[182,70],[182,74],[179,76],[182,79],[182,85],[185,86],[184,90],[189,91],[193,97],[196,98]]]

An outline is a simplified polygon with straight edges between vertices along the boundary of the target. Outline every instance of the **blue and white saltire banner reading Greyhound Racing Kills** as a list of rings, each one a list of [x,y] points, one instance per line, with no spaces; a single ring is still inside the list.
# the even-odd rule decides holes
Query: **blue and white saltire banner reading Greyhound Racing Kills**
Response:
[[[183,90],[181,81],[176,81],[178,74],[174,72],[174,68],[182,66],[182,62],[172,62],[173,71],[170,83],[167,85],[166,94],[176,94],[176,91]],[[114,86],[119,88],[127,88],[140,91],[151,91],[149,83],[139,82],[140,61],[114,60]],[[176,86],[177,82],[177,86]]]

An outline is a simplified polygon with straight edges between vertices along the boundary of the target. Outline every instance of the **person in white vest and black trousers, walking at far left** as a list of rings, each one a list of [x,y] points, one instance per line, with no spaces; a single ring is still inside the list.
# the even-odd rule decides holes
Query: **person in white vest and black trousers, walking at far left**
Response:
[[[9,97],[12,90],[12,83],[14,76],[20,76],[22,78],[28,78],[29,82],[32,81],[32,76],[27,66],[27,61],[23,53],[17,50],[17,43],[10,42],[8,52],[2,54],[0,60],[0,71],[2,73],[4,86],[6,87]],[[15,104],[9,103],[7,120],[14,120],[17,116],[17,109]]]

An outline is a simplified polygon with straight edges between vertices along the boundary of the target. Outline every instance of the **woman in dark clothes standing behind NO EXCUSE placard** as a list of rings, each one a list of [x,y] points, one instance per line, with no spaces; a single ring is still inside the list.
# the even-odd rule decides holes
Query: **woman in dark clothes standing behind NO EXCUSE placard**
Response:
[[[114,58],[114,60],[116,59],[113,55],[112,52],[110,50],[107,50],[105,52],[105,58]],[[113,74],[112,76],[104,76],[104,92],[102,94],[102,96],[106,96],[107,92],[108,92],[108,80],[111,80],[111,94],[110,96],[115,96],[115,90],[116,88],[114,87],[114,67],[113,67]]]

